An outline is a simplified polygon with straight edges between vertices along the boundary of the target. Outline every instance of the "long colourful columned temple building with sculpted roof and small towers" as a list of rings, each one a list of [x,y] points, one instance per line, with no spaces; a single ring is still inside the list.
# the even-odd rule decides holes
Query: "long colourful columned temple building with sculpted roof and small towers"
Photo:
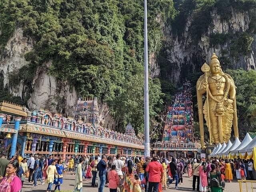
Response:
[[[97,98],[79,99],[73,117],[52,114],[44,109],[28,111],[23,107],[21,111],[26,115],[18,117],[19,125],[15,114],[0,114],[0,150],[7,150],[10,156],[33,153],[68,159],[75,154],[144,155],[144,142],[136,137],[130,124],[126,128],[127,134],[99,125]],[[14,134],[17,135],[17,144],[11,153]]]

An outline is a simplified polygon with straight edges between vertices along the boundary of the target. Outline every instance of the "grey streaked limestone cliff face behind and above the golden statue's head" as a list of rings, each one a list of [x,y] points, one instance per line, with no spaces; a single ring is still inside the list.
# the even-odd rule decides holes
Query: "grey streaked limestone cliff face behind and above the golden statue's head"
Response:
[[[233,37],[230,37],[227,42],[215,46],[212,46],[210,42],[210,36],[212,34],[233,34],[236,36],[235,34],[237,33],[246,32],[250,24],[248,12],[238,12],[232,9],[232,15],[228,20],[225,20],[217,13],[216,9],[213,9],[211,17],[212,23],[209,23],[208,30],[199,39],[195,39],[191,34],[193,20],[191,15],[186,19],[184,31],[182,34],[179,34],[181,37],[172,33],[172,27],[170,25],[163,27],[166,39],[166,63],[170,69],[166,73],[161,73],[163,78],[167,78],[177,84],[185,80],[187,74],[199,71],[204,60],[209,63],[213,53],[216,53],[219,58],[226,58],[230,62],[230,64],[224,66],[224,68],[255,70],[255,36],[250,53],[238,54],[236,58],[230,54],[230,42]],[[197,43],[195,44],[195,42]],[[221,61],[220,59],[220,62]]]

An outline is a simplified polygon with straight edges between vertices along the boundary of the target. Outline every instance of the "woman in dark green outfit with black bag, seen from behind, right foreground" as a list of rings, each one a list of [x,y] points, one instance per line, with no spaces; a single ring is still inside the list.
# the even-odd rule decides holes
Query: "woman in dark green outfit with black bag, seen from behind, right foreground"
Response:
[[[209,172],[209,188],[211,192],[223,192],[223,188],[221,186],[221,174],[219,171],[216,170],[216,166],[211,164],[212,170]]]

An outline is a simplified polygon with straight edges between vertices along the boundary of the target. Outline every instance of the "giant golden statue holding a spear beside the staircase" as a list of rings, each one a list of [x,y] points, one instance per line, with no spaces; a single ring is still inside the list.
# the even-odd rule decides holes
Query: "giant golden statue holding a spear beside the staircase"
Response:
[[[235,137],[238,136],[236,114],[236,86],[229,74],[222,71],[216,54],[211,57],[210,66],[204,63],[196,83],[198,115],[202,148],[204,145],[204,118],[209,130],[210,142],[215,144],[227,142],[231,136],[232,123]],[[206,92],[206,101],[202,104],[202,96]]]

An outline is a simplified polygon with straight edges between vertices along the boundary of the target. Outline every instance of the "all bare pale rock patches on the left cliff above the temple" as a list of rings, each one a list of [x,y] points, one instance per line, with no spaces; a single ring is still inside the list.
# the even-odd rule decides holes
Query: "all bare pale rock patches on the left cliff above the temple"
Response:
[[[72,116],[78,101],[78,92],[67,81],[58,81],[48,73],[52,64],[51,60],[45,62],[36,69],[31,84],[21,80],[18,84],[9,84],[9,75],[27,65],[24,54],[33,49],[33,41],[30,37],[23,36],[22,28],[17,28],[8,40],[4,51],[0,56],[0,75],[4,80],[4,86],[8,87],[13,96],[25,100],[29,110],[48,109],[65,116]],[[114,122],[109,114],[106,103],[100,104],[100,122],[104,126],[112,126]]]

